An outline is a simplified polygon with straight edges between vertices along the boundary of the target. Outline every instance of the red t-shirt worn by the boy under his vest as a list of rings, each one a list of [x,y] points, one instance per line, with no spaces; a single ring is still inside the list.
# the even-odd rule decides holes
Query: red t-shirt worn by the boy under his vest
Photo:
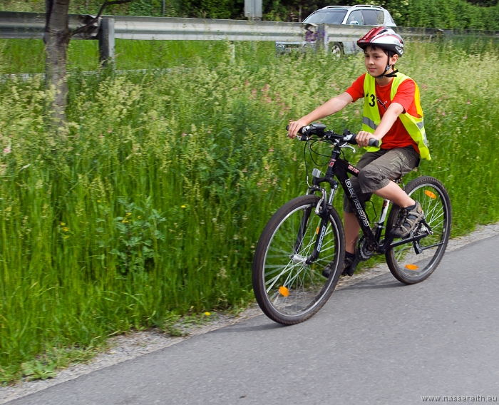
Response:
[[[346,89],[346,93],[354,99],[364,98],[364,77],[367,73],[360,76],[351,87]],[[384,113],[388,110],[391,103],[399,103],[403,107],[404,113],[409,113],[411,116],[417,117],[418,113],[414,103],[414,93],[416,92],[416,83],[412,79],[407,79],[400,83],[397,88],[397,93],[393,100],[390,98],[391,84],[393,80],[386,86],[379,86],[376,83],[376,98],[379,110],[379,116],[383,119]],[[413,141],[411,135],[403,126],[400,118],[397,118],[389,131],[384,135],[381,149],[405,148],[408,145],[413,145],[414,149],[419,153],[418,145]]]

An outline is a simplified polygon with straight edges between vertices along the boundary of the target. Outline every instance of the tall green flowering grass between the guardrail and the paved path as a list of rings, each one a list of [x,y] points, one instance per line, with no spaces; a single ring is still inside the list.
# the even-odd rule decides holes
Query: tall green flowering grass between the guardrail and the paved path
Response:
[[[0,83],[2,381],[54,347],[251,299],[259,233],[306,191],[284,128],[364,71],[362,57],[256,59],[226,48],[168,73],[75,69],[60,130],[40,78]],[[399,64],[433,156],[411,175],[446,185],[453,235],[499,219],[497,63],[493,48],[409,43]],[[359,130],[360,117],[356,103],[324,122]]]

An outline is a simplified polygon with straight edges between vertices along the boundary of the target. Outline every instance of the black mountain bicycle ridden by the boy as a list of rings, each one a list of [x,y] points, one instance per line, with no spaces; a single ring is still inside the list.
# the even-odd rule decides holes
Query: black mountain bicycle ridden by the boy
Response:
[[[452,208],[446,188],[436,178],[422,176],[403,189],[421,203],[425,219],[408,237],[389,237],[400,207],[384,200],[379,220],[371,227],[369,217],[351,187],[349,175],[359,169],[341,158],[342,148],[356,144],[355,133],[343,135],[326,130],[324,124],[303,127],[297,138],[317,153],[312,145],[329,143],[333,148],[324,176],[312,170],[312,185],[307,171],[307,195],[302,195],[277,210],[264,227],[254,252],[252,283],[254,295],[264,314],[274,322],[291,325],[316,314],[331,297],[344,262],[344,227],[333,199],[339,185],[353,207],[361,232],[356,242],[356,257],[369,260],[385,255],[386,264],[396,280],[415,284],[426,280],[441,262],[451,230]],[[378,140],[371,139],[377,146]],[[319,154],[319,153],[318,153]],[[329,155],[328,155],[329,157]],[[336,180],[337,179],[337,180]],[[401,180],[395,180],[401,183]],[[329,195],[322,184],[329,184]],[[317,195],[319,194],[319,195]],[[389,206],[392,205],[388,220]],[[376,215],[376,214],[375,214]],[[385,227],[386,220],[386,227]],[[329,277],[322,275],[329,265]]]

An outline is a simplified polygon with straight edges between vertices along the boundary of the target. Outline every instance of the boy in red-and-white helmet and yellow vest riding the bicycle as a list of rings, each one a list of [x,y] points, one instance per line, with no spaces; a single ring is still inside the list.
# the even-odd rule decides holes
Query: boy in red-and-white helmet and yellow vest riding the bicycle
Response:
[[[363,204],[374,193],[402,208],[389,235],[402,238],[410,235],[424,218],[419,202],[391,181],[416,168],[421,158],[430,160],[419,88],[411,78],[394,70],[403,53],[403,40],[395,31],[376,27],[359,39],[357,45],[364,49],[367,73],[357,78],[344,93],[307,116],[290,121],[288,136],[294,138],[300,128],[364,98],[362,130],[357,134],[356,142],[366,148],[369,139],[374,138],[379,140],[380,146],[366,148],[367,153],[356,166],[361,169],[359,176],[353,176],[351,183]],[[360,226],[346,197],[343,209],[346,242],[343,274],[351,276],[359,264],[355,249]],[[328,267],[323,275],[329,276]]]

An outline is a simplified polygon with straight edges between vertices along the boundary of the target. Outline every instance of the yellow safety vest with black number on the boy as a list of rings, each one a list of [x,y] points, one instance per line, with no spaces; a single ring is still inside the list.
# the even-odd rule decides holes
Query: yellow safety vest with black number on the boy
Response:
[[[402,73],[397,73],[391,83],[390,99],[393,100],[397,93],[397,88],[409,77]],[[416,104],[417,117],[411,116],[409,113],[403,113],[398,118],[402,121],[403,126],[406,128],[411,138],[418,145],[419,155],[422,159],[431,160],[430,150],[428,150],[428,140],[426,140],[426,131],[423,123],[423,110],[421,109],[421,101],[419,100],[419,88],[416,82],[416,91],[414,93],[414,103]],[[379,116],[378,103],[376,102],[376,78],[366,73],[364,78],[364,117],[362,118],[362,130],[369,133],[374,133],[381,122]],[[381,145],[381,140],[379,141]],[[369,152],[376,152],[379,147],[369,146],[366,148]]]

